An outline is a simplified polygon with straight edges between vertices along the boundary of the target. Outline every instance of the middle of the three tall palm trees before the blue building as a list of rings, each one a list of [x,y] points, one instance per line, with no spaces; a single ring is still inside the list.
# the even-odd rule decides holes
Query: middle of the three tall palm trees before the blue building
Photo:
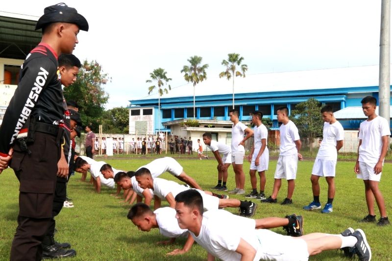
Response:
[[[207,73],[205,70],[208,68],[208,64],[199,66],[201,64],[200,56],[191,56],[187,61],[191,64],[190,66],[184,65],[184,68],[181,72],[185,72],[184,78],[187,82],[193,83],[193,119],[195,119],[196,113],[196,101],[195,101],[195,87],[196,84],[202,82],[203,80],[207,79]]]

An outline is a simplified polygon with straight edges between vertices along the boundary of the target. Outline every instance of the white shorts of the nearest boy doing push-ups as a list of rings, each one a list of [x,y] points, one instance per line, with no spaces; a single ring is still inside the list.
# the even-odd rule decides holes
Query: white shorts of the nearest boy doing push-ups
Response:
[[[260,247],[254,260],[307,261],[308,245],[301,238],[283,236],[267,229],[256,229]]]

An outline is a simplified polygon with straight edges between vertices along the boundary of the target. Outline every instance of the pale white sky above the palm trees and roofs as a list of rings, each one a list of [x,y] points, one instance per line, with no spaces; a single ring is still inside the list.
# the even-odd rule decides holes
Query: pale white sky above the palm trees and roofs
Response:
[[[52,0],[2,1],[0,10],[41,16]],[[172,88],[193,95],[180,72],[193,55],[217,80],[228,53],[247,75],[376,65],[381,0],[68,0],[89,22],[73,54],[97,60],[112,81],[107,109],[148,95],[159,67]],[[221,79],[222,83],[227,82]],[[230,93],[231,89],[227,90]],[[163,96],[164,97],[164,96]]]

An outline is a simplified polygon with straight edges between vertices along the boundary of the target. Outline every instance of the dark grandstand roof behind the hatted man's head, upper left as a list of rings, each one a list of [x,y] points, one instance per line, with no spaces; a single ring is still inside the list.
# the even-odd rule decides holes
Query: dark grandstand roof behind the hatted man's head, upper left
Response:
[[[39,17],[0,11],[0,54],[2,58],[25,59],[40,41],[35,31]]]

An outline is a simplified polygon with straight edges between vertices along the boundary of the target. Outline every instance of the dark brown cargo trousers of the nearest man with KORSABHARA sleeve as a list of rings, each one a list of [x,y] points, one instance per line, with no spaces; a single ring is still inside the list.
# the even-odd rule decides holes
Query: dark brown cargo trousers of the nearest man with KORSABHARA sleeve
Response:
[[[56,137],[36,132],[31,154],[14,146],[10,167],[20,182],[18,227],[11,246],[11,261],[33,261],[42,258],[42,239],[53,216],[57,162],[60,147]]]

